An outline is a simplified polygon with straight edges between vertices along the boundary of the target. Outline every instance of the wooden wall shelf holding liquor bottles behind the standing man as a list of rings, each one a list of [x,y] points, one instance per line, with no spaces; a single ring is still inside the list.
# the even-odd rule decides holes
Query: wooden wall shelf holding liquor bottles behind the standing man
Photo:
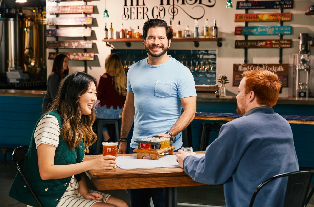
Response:
[[[111,46],[111,42],[125,42],[128,47],[131,46],[131,42],[142,42],[142,39],[103,39],[103,42],[106,42],[107,46]],[[215,41],[217,42],[217,46],[222,46],[222,38],[173,38],[172,42],[194,42],[194,46],[198,47],[199,42],[201,41]]]

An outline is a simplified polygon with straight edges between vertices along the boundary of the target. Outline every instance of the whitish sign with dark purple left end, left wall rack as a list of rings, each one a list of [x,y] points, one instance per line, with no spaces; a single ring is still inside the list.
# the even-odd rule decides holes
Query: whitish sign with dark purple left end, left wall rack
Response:
[[[84,27],[63,27],[59,29],[46,29],[46,37],[90,37],[92,29]]]

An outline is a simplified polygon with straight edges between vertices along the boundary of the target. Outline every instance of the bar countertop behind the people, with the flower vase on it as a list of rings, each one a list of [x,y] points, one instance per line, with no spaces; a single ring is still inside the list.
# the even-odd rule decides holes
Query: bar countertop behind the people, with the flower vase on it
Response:
[[[3,90],[0,96],[44,97],[45,90]],[[125,94],[124,94],[125,95]],[[212,93],[197,92],[197,102],[236,103],[236,96],[216,97]],[[279,97],[277,104],[314,105],[314,98]]]

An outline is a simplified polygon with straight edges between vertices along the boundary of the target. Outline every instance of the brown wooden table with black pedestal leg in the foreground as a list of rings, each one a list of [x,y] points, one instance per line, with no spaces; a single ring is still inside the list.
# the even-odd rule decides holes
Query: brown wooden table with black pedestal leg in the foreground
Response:
[[[197,154],[205,153],[196,152]],[[176,153],[174,153],[176,154]],[[135,156],[119,154],[118,156]],[[102,155],[85,155],[88,161]],[[161,167],[144,169],[89,170],[85,172],[97,190],[118,190],[138,188],[166,188],[166,207],[177,206],[176,187],[202,186],[195,182],[180,167]]]

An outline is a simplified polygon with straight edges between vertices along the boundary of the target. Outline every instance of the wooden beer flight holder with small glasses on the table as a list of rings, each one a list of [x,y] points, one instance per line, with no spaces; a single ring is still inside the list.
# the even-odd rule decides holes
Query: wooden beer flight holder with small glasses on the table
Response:
[[[138,149],[133,150],[136,152],[136,158],[143,159],[144,156],[149,156],[152,160],[158,160],[160,155],[173,155],[173,150],[176,147],[171,144],[171,141],[175,143],[176,137],[165,137],[170,138],[169,146],[165,147],[161,146],[161,141],[158,140],[159,138],[163,137],[154,136],[148,139],[136,140],[135,142],[138,143]]]

